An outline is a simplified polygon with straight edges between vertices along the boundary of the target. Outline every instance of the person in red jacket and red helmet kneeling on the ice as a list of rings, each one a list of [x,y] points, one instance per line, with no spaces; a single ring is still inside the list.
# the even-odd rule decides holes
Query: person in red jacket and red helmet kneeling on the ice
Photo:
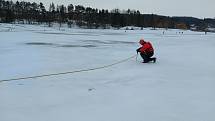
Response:
[[[150,61],[153,61],[155,63],[156,58],[151,58],[154,55],[152,44],[150,42],[144,41],[144,39],[140,39],[139,43],[142,45],[142,47],[138,48],[136,51],[137,54],[138,52],[140,52],[140,55],[143,58],[143,63],[148,63]]]

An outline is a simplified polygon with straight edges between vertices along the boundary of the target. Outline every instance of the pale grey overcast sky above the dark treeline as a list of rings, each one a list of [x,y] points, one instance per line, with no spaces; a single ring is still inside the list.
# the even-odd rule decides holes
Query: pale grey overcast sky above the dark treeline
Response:
[[[51,2],[55,4],[84,5],[104,9],[136,9],[141,13],[154,13],[165,16],[193,16],[215,18],[215,0],[24,0],[42,2],[46,9]]]

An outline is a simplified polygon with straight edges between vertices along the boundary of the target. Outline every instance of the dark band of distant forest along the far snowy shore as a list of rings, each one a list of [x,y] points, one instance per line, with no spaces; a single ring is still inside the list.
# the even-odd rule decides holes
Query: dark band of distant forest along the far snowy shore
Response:
[[[51,3],[49,9],[43,3],[24,1],[0,0],[0,22],[42,24],[50,27],[53,23],[67,24],[68,27],[76,24],[87,28],[120,28],[125,26],[152,27],[152,28],[177,28],[207,31],[215,28],[215,19],[198,19],[194,17],[169,17],[156,14],[142,14],[139,10],[105,10],[82,5],[69,4],[55,5]]]

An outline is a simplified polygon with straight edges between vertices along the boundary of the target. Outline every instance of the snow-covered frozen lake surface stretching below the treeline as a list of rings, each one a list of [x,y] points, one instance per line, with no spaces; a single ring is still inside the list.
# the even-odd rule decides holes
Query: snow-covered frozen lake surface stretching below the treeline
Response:
[[[105,69],[1,82],[0,121],[214,121],[213,33],[1,23],[0,80],[105,66],[135,55],[140,38],[153,43],[157,63],[138,56]]]

